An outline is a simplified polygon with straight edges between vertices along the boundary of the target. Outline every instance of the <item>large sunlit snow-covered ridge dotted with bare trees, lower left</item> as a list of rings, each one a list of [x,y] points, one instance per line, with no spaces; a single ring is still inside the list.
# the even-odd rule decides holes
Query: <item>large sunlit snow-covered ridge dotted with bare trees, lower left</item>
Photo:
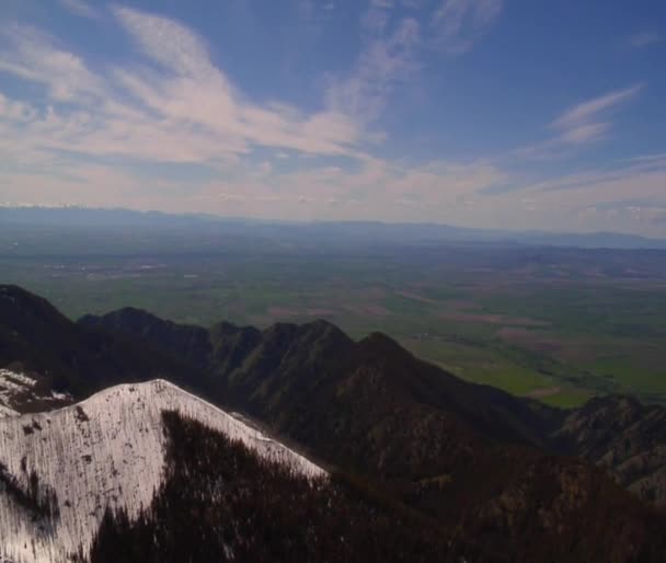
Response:
[[[79,547],[88,552],[107,506],[125,507],[130,517],[148,506],[163,475],[165,410],[240,439],[257,455],[302,474],[325,474],[286,446],[166,381],[110,388],[58,411],[0,420],[0,561],[71,561]],[[8,492],[9,475],[30,493],[31,474],[38,478],[35,501],[42,515],[36,519],[34,510]]]

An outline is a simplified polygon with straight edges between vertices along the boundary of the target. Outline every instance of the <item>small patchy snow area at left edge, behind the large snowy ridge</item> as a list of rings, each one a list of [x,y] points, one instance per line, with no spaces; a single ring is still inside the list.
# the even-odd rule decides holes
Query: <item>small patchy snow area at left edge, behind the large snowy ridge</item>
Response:
[[[38,405],[39,411],[49,411],[71,403],[71,397],[42,389],[37,379],[25,374],[0,369],[0,418],[19,416],[30,410],[31,403]]]

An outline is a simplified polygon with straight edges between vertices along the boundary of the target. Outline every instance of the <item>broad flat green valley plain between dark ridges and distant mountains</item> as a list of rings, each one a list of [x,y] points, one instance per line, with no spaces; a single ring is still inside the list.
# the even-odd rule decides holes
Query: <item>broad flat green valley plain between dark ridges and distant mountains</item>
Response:
[[[356,338],[386,332],[462,378],[550,404],[606,392],[666,402],[661,275],[622,274],[617,260],[608,273],[562,256],[489,266],[484,253],[453,254],[5,256],[0,280],[72,319],[126,306],[202,325],[323,318]]]

